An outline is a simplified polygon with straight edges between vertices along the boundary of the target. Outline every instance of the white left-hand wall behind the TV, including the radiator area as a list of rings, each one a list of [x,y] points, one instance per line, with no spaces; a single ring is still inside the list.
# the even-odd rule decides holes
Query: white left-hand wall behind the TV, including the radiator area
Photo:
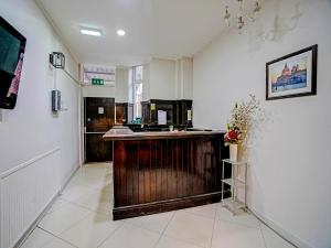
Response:
[[[34,1],[0,0],[0,15],[28,40],[17,107],[1,110],[0,247],[8,248],[79,164],[79,87],[63,71],[50,66],[49,54],[63,52],[66,69],[77,78],[77,63]],[[54,88],[62,90],[64,105],[68,108],[58,115],[51,110],[51,90]],[[14,198],[7,198],[10,195],[21,201],[24,211],[11,205],[4,207],[18,204],[12,202]],[[15,215],[20,216],[20,223],[13,223]]]

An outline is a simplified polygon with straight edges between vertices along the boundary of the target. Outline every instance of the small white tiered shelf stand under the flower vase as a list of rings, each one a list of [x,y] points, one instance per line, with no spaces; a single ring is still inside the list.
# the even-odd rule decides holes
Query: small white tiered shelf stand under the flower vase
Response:
[[[231,177],[224,179],[224,168],[232,166]],[[247,168],[246,161],[222,160],[222,205],[229,209],[234,215],[247,209]],[[244,179],[238,179],[237,173],[244,170]],[[224,198],[224,185],[231,186],[231,197]],[[238,188],[244,191],[244,202],[238,198]]]

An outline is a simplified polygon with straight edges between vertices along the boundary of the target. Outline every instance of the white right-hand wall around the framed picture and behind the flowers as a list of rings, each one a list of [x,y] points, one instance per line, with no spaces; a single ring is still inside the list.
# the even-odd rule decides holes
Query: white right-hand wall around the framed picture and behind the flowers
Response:
[[[248,94],[269,112],[249,153],[249,207],[301,247],[331,247],[330,23],[331,1],[269,0],[243,34],[225,32],[194,56],[194,126],[224,129]],[[317,96],[266,101],[266,62],[313,44]]]

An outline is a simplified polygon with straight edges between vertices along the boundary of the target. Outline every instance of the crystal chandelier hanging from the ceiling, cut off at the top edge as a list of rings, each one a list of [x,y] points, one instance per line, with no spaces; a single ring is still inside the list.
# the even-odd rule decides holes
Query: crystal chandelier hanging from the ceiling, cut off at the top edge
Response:
[[[261,10],[261,7],[259,4],[259,1],[256,0],[254,1],[254,8],[253,8],[253,12],[249,13],[244,13],[244,0],[237,0],[237,2],[239,3],[239,9],[237,12],[237,29],[241,33],[241,31],[243,30],[243,28],[245,26],[245,19],[249,20],[249,21],[255,21],[259,11]],[[252,17],[253,15],[253,17]],[[231,26],[231,12],[228,10],[228,6],[225,7],[225,14],[224,14],[224,21],[226,23],[227,26]]]

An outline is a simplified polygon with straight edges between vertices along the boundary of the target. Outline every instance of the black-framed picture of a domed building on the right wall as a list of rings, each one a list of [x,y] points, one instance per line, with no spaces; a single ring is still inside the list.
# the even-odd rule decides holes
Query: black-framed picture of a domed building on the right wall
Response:
[[[266,64],[266,100],[317,94],[318,45]]]

